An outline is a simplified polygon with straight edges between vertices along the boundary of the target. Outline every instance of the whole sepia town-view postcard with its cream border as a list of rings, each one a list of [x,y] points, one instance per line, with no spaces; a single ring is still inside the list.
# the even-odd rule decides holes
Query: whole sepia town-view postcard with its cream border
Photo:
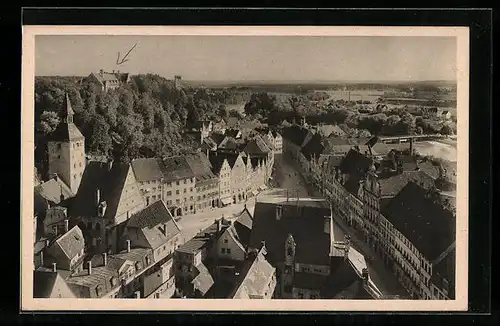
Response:
[[[24,34],[30,309],[466,309],[467,28]]]

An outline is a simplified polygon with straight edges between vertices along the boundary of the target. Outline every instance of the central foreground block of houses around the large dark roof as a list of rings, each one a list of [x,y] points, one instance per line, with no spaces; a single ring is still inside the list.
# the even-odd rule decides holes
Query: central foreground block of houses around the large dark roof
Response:
[[[279,194],[254,213],[216,219],[175,252],[179,293],[193,298],[382,299],[328,203]]]

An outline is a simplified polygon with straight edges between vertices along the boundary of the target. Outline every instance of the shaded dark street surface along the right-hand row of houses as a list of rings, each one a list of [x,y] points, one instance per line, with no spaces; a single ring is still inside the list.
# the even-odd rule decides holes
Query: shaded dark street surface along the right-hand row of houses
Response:
[[[278,187],[297,189],[301,196],[321,196],[322,195],[308,186],[302,174],[299,172],[295,162],[282,157],[275,159],[276,177]],[[281,172],[278,172],[281,171]],[[370,271],[370,278],[377,285],[384,295],[399,295],[401,299],[409,298],[406,290],[399,284],[398,280],[390,272],[381,260],[378,259],[373,250],[362,240],[359,231],[349,227],[342,219],[334,217],[334,227],[341,229],[343,233],[351,236],[352,247],[365,256],[366,265]],[[374,259],[371,259],[373,257]]]

